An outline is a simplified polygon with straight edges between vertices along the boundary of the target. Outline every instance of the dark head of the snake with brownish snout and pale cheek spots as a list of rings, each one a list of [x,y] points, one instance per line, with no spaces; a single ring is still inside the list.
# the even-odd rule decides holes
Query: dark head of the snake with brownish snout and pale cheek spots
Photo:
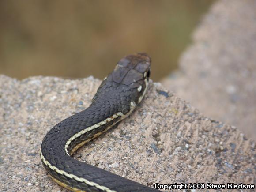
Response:
[[[136,53],[122,58],[116,68],[110,73],[98,88],[93,101],[112,97],[125,99],[137,105],[141,102],[146,90],[150,76],[151,58],[147,53]],[[110,94],[108,93],[110,92]],[[124,98],[126,97],[126,98]]]

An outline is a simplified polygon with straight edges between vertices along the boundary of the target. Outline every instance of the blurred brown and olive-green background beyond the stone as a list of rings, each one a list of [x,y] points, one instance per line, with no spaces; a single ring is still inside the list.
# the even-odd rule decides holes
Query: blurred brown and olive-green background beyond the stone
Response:
[[[146,52],[152,79],[177,68],[214,0],[0,1],[0,73],[102,79],[123,56]]]

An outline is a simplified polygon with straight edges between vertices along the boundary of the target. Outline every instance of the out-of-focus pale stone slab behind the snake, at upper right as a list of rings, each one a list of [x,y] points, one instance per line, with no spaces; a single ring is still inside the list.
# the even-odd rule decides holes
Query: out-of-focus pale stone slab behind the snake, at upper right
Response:
[[[162,81],[203,114],[256,139],[256,1],[220,0],[196,29],[180,70]]]

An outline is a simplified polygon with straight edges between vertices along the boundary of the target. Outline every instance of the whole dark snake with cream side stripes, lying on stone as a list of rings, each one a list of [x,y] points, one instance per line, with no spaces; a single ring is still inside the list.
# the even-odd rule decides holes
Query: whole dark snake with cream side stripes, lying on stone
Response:
[[[53,181],[75,192],[158,191],[72,158],[79,147],[132,113],[146,93],[150,68],[151,58],[147,53],[125,56],[102,81],[87,109],[62,120],[47,132],[41,143],[40,158]]]

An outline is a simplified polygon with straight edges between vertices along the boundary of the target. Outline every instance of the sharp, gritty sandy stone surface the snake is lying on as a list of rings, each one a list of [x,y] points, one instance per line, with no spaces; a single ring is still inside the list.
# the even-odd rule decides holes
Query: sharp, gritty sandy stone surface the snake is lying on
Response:
[[[0,75],[1,192],[66,191],[41,165],[41,140],[60,120],[86,109],[100,83],[92,77],[18,81]],[[153,186],[253,184],[255,155],[255,141],[151,82],[130,117],[80,148],[74,158]]]

